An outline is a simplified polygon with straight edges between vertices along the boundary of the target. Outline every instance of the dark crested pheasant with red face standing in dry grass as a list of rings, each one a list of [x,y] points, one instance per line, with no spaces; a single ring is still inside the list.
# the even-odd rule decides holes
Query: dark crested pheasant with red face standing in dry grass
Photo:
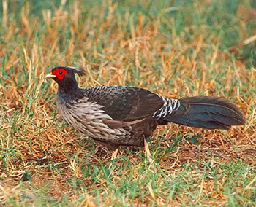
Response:
[[[157,125],[169,122],[208,130],[244,125],[244,114],[232,101],[216,96],[166,98],[140,87],[78,87],[80,67],[56,66],[45,78],[58,84],[56,105],[76,130],[108,149],[145,147]]]

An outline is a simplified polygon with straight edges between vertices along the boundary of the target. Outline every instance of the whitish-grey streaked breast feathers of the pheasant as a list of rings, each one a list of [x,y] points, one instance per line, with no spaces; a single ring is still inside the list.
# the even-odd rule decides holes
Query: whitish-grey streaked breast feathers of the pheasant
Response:
[[[97,103],[88,101],[88,98],[78,101],[64,101],[57,98],[57,109],[61,117],[73,128],[90,136],[103,140],[116,140],[127,136],[124,128],[110,128],[102,120],[112,120]]]

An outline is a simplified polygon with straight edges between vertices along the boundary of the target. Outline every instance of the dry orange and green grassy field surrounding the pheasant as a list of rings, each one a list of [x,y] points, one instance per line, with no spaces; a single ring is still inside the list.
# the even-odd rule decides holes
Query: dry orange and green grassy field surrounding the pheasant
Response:
[[[2,0],[0,20],[0,206],[255,206],[255,1]],[[151,160],[110,160],[56,111],[59,65],[81,87],[225,96],[246,125],[162,126]]]

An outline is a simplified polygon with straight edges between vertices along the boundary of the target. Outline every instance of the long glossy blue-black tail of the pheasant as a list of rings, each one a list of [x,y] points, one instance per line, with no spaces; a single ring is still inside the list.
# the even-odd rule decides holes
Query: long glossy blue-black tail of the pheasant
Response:
[[[231,101],[214,96],[195,96],[178,100],[180,106],[164,122],[206,129],[230,129],[232,125],[244,125],[244,114]]]

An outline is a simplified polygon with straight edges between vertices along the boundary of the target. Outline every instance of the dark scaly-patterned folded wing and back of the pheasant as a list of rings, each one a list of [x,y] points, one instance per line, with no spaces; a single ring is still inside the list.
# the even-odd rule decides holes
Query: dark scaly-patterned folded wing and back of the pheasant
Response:
[[[85,95],[88,101],[102,105],[113,120],[125,122],[151,117],[164,104],[159,95],[138,87],[89,87]]]

